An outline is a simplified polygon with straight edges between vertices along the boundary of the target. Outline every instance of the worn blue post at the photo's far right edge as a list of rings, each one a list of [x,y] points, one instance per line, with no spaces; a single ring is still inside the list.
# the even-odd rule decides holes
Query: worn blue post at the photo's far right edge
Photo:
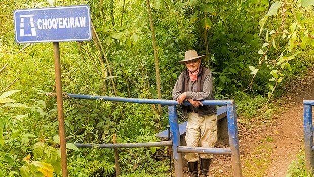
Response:
[[[313,146],[313,123],[312,123],[312,105],[304,104],[304,143],[305,143],[305,167],[307,170],[314,168]]]

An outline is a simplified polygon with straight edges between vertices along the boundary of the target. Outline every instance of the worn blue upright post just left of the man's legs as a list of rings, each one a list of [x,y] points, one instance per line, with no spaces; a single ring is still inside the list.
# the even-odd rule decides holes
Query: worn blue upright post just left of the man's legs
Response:
[[[178,146],[180,146],[180,132],[178,124],[178,114],[176,106],[168,106],[170,136],[172,140],[172,152],[174,160],[174,171],[176,177],[183,177],[182,156],[178,153]]]

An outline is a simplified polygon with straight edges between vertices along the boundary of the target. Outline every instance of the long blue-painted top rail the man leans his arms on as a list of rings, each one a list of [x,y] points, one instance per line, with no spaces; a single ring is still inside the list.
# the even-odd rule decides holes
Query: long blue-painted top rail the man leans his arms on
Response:
[[[82,95],[82,94],[67,94],[69,98],[80,98],[89,100],[106,100],[106,101],[117,101],[117,102],[130,102],[139,104],[161,104],[161,105],[178,105],[175,100],[164,100],[164,99],[144,99],[144,98],[127,98],[127,97],[108,97],[99,95]],[[204,100],[203,105],[227,105],[233,104],[234,100]],[[184,102],[184,106],[191,105],[189,102]]]

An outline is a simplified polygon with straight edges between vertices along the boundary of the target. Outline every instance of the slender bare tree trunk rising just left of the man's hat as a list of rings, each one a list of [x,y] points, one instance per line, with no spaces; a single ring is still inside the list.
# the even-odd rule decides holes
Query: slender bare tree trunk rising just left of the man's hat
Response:
[[[150,30],[151,30],[151,36],[152,36],[152,46],[154,48],[154,58],[155,58],[155,67],[156,67],[156,80],[157,80],[157,97],[158,99],[161,99],[161,92],[160,92],[160,74],[159,74],[159,61],[157,56],[157,46],[156,46],[156,37],[155,37],[155,31],[154,31],[154,25],[152,21],[152,16],[150,12],[150,5],[149,0],[146,0],[146,6],[147,6],[147,13],[150,23]],[[158,113],[162,113],[162,106],[158,105]]]

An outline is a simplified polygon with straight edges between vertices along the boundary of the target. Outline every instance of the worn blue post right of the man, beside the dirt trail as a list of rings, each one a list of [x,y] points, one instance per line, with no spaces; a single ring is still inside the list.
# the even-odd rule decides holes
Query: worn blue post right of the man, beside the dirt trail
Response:
[[[237,126],[237,113],[235,112],[235,101],[232,104],[227,104],[227,117],[228,117],[228,133],[229,144],[231,149],[231,162],[233,166],[233,176],[242,177],[240,151],[239,151],[239,136]]]

